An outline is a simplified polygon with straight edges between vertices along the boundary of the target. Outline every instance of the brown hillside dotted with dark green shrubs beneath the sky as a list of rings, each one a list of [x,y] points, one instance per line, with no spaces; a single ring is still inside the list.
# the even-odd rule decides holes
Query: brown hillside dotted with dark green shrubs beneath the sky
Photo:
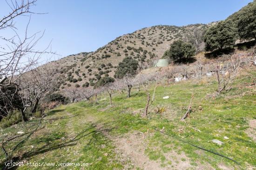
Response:
[[[212,24],[214,23],[143,28],[118,37],[94,52],[70,55],[54,61],[59,66],[60,88],[74,87],[76,84],[82,86],[91,79],[95,83],[97,75],[114,77],[118,63],[126,56],[138,60],[140,69],[151,67],[153,61],[161,58],[170,44],[180,38],[195,44],[198,52],[202,51],[202,34]]]

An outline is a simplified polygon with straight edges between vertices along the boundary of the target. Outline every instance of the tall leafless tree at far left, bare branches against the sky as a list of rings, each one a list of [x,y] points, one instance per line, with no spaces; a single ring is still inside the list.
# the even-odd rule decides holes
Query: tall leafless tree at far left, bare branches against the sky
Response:
[[[29,85],[22,79],[26,78],[24,75],[27,72],[30,72],[30,74],[33,72],[33,75],[36,74],[34,70],[38,66],[40,57],[46,54],[54,55],[55,53],[51,52],[50,45],[47,45],[43,50],[35,50],[44,32],[28,33],[30,15],[34,13],[31,9],[36,5],[36,0],[7,0],[6,3],[10,7],[11,12],[0,19],[0,34],[8,35],[5,31],[13,32],[13,34],[10,37],[0,37],[0,95],[3,95],[4,88],[10,89],[12,87],[11,89],[13,89],[15,87],[15,90],[8,90],[8,98],[4,101],[13,102],[8,103],[8,105],[19,108],[22,120],[25,121],[24,111],[26,111],[28,106],[32,106],[33,102],[36,104],[40,98],[39,96],[47,88],[45,85],[37,86],[36,82]],[[15,25],[16,19],[21,17],[27,17],[28,19],[23,35],[20,34],[22,30],[17,31],[18,28]],[[45,76],[40,76],[40,78],[42,77],[45,79]],[[31,79],[28,80],[32,81]],[[38,79],[35,80],[38,81]],[[10,92],[13,94],[10,94]],[[16,98],[17,100],[13,100],[14,96],[20,96],[20,99]]]

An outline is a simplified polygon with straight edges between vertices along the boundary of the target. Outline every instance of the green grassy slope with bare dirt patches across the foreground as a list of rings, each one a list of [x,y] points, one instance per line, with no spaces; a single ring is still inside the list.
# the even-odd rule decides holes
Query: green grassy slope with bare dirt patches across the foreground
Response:
[[[144,108],[146,95],[143,91],[134,91],[129,99],[125,98],[126,94],[115,94],[113,107],[108,106],[108,98],[104,96],[98,104],[83,101],[61,106],[48,113],[42,122],[45,128],[36,132],[17,153],[24,153],[26,150],[21,159],[30,162],[89,163],[90,165],[85,169],[91,170],[123,169],[124,166],[133,168],[129,162],[122,162],[119,155],[113,152],[115,145],[105,132],[117,136],[140,131],[153,134],[147,138],[145,154],[150,159],[161,162],[162,166],[171,164],[165,153],[173,150],[177,153],[185,152],[193,166],[211,164],[216,169],[219,164],[235,169],[247,169],[248,165],[255,167],[256,143],[245,133],[249,127],[248,121],[256,119],[255,88],[250,86],[250,82],[255,77],[255,69],[244,72],[229,93],[214,99],[206,97],[216,89],[216,82],[213,79],[180,82],[168,87],[159,86],[147,119],[142,119],[138,114],[131,114],[139,113]],[[192,93],[195,95],[194,112],[186,121],[181,122],[180,118],[185,113],[182,107],[188,106]],[[170,98],[163,100],[162,97],[166,95]],[[156,114],[153,111],[156,107],[164,107],[167,111],[164,114]],[[15,134],[20,129],[24,129],[25,132],[31,130],[36,121],[28,122],[25,128],[19,124],[3,129],[0,132],[0,139],[5,135]],[[211,153],[198,151],[191,145],[168,138],[154,130],[163,127],[165,127],[164,132],[229,156],[241,166]],[[224,136],[229,139],[223,139]],[[210,142],[212,139],[219,139],[225,144],[215,145]],[[3,153],[0,157],[3,161]],[[62,168],[70,169],[70,167]],[[80,168],[76,167],[76,169]]]

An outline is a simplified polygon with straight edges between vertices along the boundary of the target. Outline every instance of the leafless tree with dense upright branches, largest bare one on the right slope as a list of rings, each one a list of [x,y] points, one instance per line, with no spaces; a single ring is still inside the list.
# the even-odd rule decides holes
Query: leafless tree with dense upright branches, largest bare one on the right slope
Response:
[[[241,59],[239,55],[233,54],[229,56],[229,60],[224,61],[222,63],[218,62],[216,65],[216,75],[218,94],[221,94],[224,90],[230,90],[232,83],[234,82],[241,63]]]

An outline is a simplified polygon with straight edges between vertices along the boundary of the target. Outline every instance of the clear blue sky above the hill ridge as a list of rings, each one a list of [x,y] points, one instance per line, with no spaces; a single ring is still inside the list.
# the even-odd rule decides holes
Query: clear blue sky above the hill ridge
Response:
[[[153,25],[188,25],[226,19],[253,0],[38,0],[29,31],[44,31],[39,44],[65,57],[94,51],[123,34]],[[0,0],[0,18],[9,8]],[[27,19],[17,20],[20,27]],[[1,32],[0,32],[1,34]],[[0,35],[2,36],[2,35]]]

